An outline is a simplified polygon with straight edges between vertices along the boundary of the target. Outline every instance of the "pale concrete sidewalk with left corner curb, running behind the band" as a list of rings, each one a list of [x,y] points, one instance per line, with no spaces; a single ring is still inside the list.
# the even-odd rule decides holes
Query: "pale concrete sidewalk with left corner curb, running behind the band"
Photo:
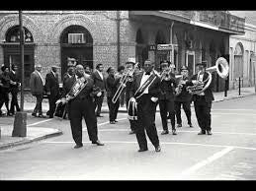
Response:
[[[224,96],[224,92],[213,93],[214,101],[223,101],[233,98],[240,98],[244,96],[251,96],[255,94],[255,88],[242,88],[240,96],[238,95],[238,90],[231,90],[227,92],[227,96]],[[193,106],[193,104],[192,104]],[[34,102],[25,102],[24,110],[31,113],[35,107]],[[48,103],[43,102],[43,113],[45,113],[48,109]],[[157,111],[159,111],[159,106],[157,106]],[[102,113],[109,112],[109,108],[107,106],[107,102],[103,102]],[[127,112],[127,107],[120,107],[119,112]],[[1,118],[0,118],[1,119]],[[12,118],[10,118],[12,119]],[[13,120],[13,119],[12,119]],[[24,145],[28,143],[32,143],[34,141],[40,141],[52,136],[61,135],[62,132],[58,129],[53,128],[45,128],[45,127],[28,127],[27,126],[27,137],[12,137],[13,126],[12,125],[3,125],[0,121],[0,150],[8,149],[11,147]]]

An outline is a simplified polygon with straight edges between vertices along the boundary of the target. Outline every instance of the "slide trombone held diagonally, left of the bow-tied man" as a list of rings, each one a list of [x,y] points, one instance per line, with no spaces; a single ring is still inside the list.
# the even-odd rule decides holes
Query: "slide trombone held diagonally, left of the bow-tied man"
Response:
[[[138,66],[138,62],[134,65],[133,68],[128,69],[128,72],[124,76],[122,76],[121,82],[120,82],[121,85],[120,85],[120,87],[118,88],[117,92],[115,93],[115,95],[112,98],[112,102],[113,103],[117,102],[117,100],[119,99],[119,97],[123,93],[124,89],[126,88],[126,84],[128,82],[132,82],[132,80],[133,80],[133,73],[136,70],[137,66]]]

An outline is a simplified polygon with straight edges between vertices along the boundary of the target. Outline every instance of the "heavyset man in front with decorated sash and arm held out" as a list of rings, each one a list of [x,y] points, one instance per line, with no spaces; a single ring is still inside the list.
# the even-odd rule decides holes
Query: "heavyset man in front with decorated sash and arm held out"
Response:
[[[62,103],[67,102],[68,116],[71,125],[72,137],[76,143],[75,149],[83,147],[82,143],[82,118],[85,119],[89,139],[92,144],[103,146],[98,139],[97,118],[94,111],[93,96],[98,92],[94,92],[93,79],[84,72],[82,65],[75,67],[75,76],[66,80],[67,84],[72,84],[70,92],[66,93],[64,89],[64,97],[61,98]]]

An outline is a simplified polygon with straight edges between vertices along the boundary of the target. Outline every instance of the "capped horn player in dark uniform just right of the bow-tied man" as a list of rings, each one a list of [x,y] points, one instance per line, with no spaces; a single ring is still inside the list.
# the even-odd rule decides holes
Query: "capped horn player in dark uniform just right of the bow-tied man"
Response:
[[[169,68],[168,61],[161,61],[161,84],[159,96],[159,108],[162,120],[163,131],[161,135],[168,134],[167,113],[169,113],[172,125],[172,134],[177,135],[175,129],[174,90],[177,87],[174,74]]]

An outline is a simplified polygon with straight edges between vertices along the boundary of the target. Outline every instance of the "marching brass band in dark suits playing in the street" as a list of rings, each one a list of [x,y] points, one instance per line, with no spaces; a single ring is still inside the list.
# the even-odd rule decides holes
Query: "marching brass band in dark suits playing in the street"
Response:
[[[221,78],[227,77],[229,68],[224,58],[217,59],[215,66],[208,69],[206,62],[198,63],[198,73],[191,78],[188,76],[189,69],[186,66],[182,66],[181,75],[177,75],[173,72],[174,64],[166,60],[160,63],[160,73],[154,70],[154,62],[151,60],[145,60],[142,66],[143,69],[140,70],[139,63],[128,61],[126,67],[119,67],[119,71],[122,70],[120,73],[116,73],[113,67],[109,67],[105,83],[111,124],[118,122],[120,96],[125,92],[130,125],[129,134],[135,134],[139,147],[138,152],[148,150],[146,135],[155,147],[155,151],[161,151],[155,126],[155,113],[158,104],[163,128],[161,135],[169,133],[168,114],[171,120],[172,134],[177,135],[175,116],[177,127],[182,127],[181,105],[186,114],[188,126],[193,127],[191,121],[192,101],[194,101],[196,117],[201,128],[199,135],[212,135],[213,81],[211,73],[216,71]],[[75,148],[82,147],[80,122],[82,116],[86,119],[88,134],[92,143],[103,145],[98,141],[94,106],[95,97],[102,91],[95,88],[94,78],[84,73],[82,65],[76,67],[76,75],[69,76],[70,78],[66,78],[64,84],[73,86],[69,85],[68,89],[64,86],[65,93],[68,90],[68,94],[62,96],[56,103],[62,102],[64,104],[67,102],[68,104],[67,114],[76,143]],[[84,81],[79,82],[79,79],[84,79]],[[86,109],[82,106],[83,104],[86,104]],[[79,118],[77,118],[78,116]]]

